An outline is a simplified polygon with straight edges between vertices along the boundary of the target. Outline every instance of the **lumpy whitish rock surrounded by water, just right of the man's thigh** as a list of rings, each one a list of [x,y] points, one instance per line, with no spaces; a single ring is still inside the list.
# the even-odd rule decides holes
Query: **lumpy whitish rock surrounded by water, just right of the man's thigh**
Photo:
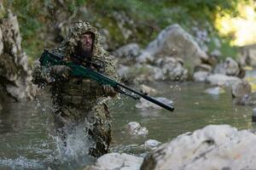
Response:
[[[147,135],[148,129],[146,127],[141,127],[138,122],[129,122],[127,125],[127,130],[132,135]]]

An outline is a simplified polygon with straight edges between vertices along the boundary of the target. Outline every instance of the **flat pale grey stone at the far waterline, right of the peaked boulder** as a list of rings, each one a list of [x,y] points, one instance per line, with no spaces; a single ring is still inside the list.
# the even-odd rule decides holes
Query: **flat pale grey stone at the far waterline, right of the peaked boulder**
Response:
[[[222,74],[214,74],[207,77],[207,82],[210,82],[212,85],[231,86],[235,82],[241,82],[241,79],[238,77],[229,77]]]

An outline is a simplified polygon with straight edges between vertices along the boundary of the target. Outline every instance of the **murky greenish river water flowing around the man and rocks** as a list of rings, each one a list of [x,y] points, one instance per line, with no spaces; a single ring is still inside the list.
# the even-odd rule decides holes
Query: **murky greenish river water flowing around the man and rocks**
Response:
[[[249,72],[253,77],[254,72]],[[175,111],[164,109],[141,111],[137,101],[122,96],[109,103],[113,115],[111,151],[145,156],[140,147],[147,139],[162,143],[181,133],[191,132],[208,124],[230,124],[239,129],[251,128],[253,106],[233,105],[230,88],[223,94],[207,94],[209,84],[196,82],[154,82],[156,97],[172,99]],[[79,169],[95,161],[87,155],[88,142],[78,129],[67,148],[51,133],[49,97],[31,102],[8,102],[0,111],[0,169]],[[148,135],[135,137],[125,133],[128,122],[139,122],[148,128]]]

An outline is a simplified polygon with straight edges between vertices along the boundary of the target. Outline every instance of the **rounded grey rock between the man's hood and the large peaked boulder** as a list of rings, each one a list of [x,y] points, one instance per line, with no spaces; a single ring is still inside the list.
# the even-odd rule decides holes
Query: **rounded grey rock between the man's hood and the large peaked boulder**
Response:
[[[137,43],[129,43],[113,51],[113,55],[118,58],[137,57],[141,53],[141,48]]]

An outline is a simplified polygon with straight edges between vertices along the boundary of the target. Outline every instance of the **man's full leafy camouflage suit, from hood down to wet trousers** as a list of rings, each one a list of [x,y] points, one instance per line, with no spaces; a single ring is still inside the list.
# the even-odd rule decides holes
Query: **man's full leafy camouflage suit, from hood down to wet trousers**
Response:
[[[90,31],[94,33],[93,59],[104,61],[104,69],[94,68],[102,74],[117,80],[113,61],[109,54],[99,44],[99,34],[96,28],[88,22],[79,21],[70,27],[67,38],[60,48],[53,51],[69,60],[74,54],[81,35]],[[101,156],[107,153],[111,142],[111,116],[106,105],[108,93],[97,82],[84,77],[69,77],[68,80],[58,78],[52,67],[37,66],[33,71],[32,82],[39,86],[49,86],[55,106],[55,125],[58,132],[63,135],[64,127],[73,126],[84,120],[90,124],[88,134],[96,144],[90,149],[92,156]],[[55,80],[55,81],[52,81]]]

